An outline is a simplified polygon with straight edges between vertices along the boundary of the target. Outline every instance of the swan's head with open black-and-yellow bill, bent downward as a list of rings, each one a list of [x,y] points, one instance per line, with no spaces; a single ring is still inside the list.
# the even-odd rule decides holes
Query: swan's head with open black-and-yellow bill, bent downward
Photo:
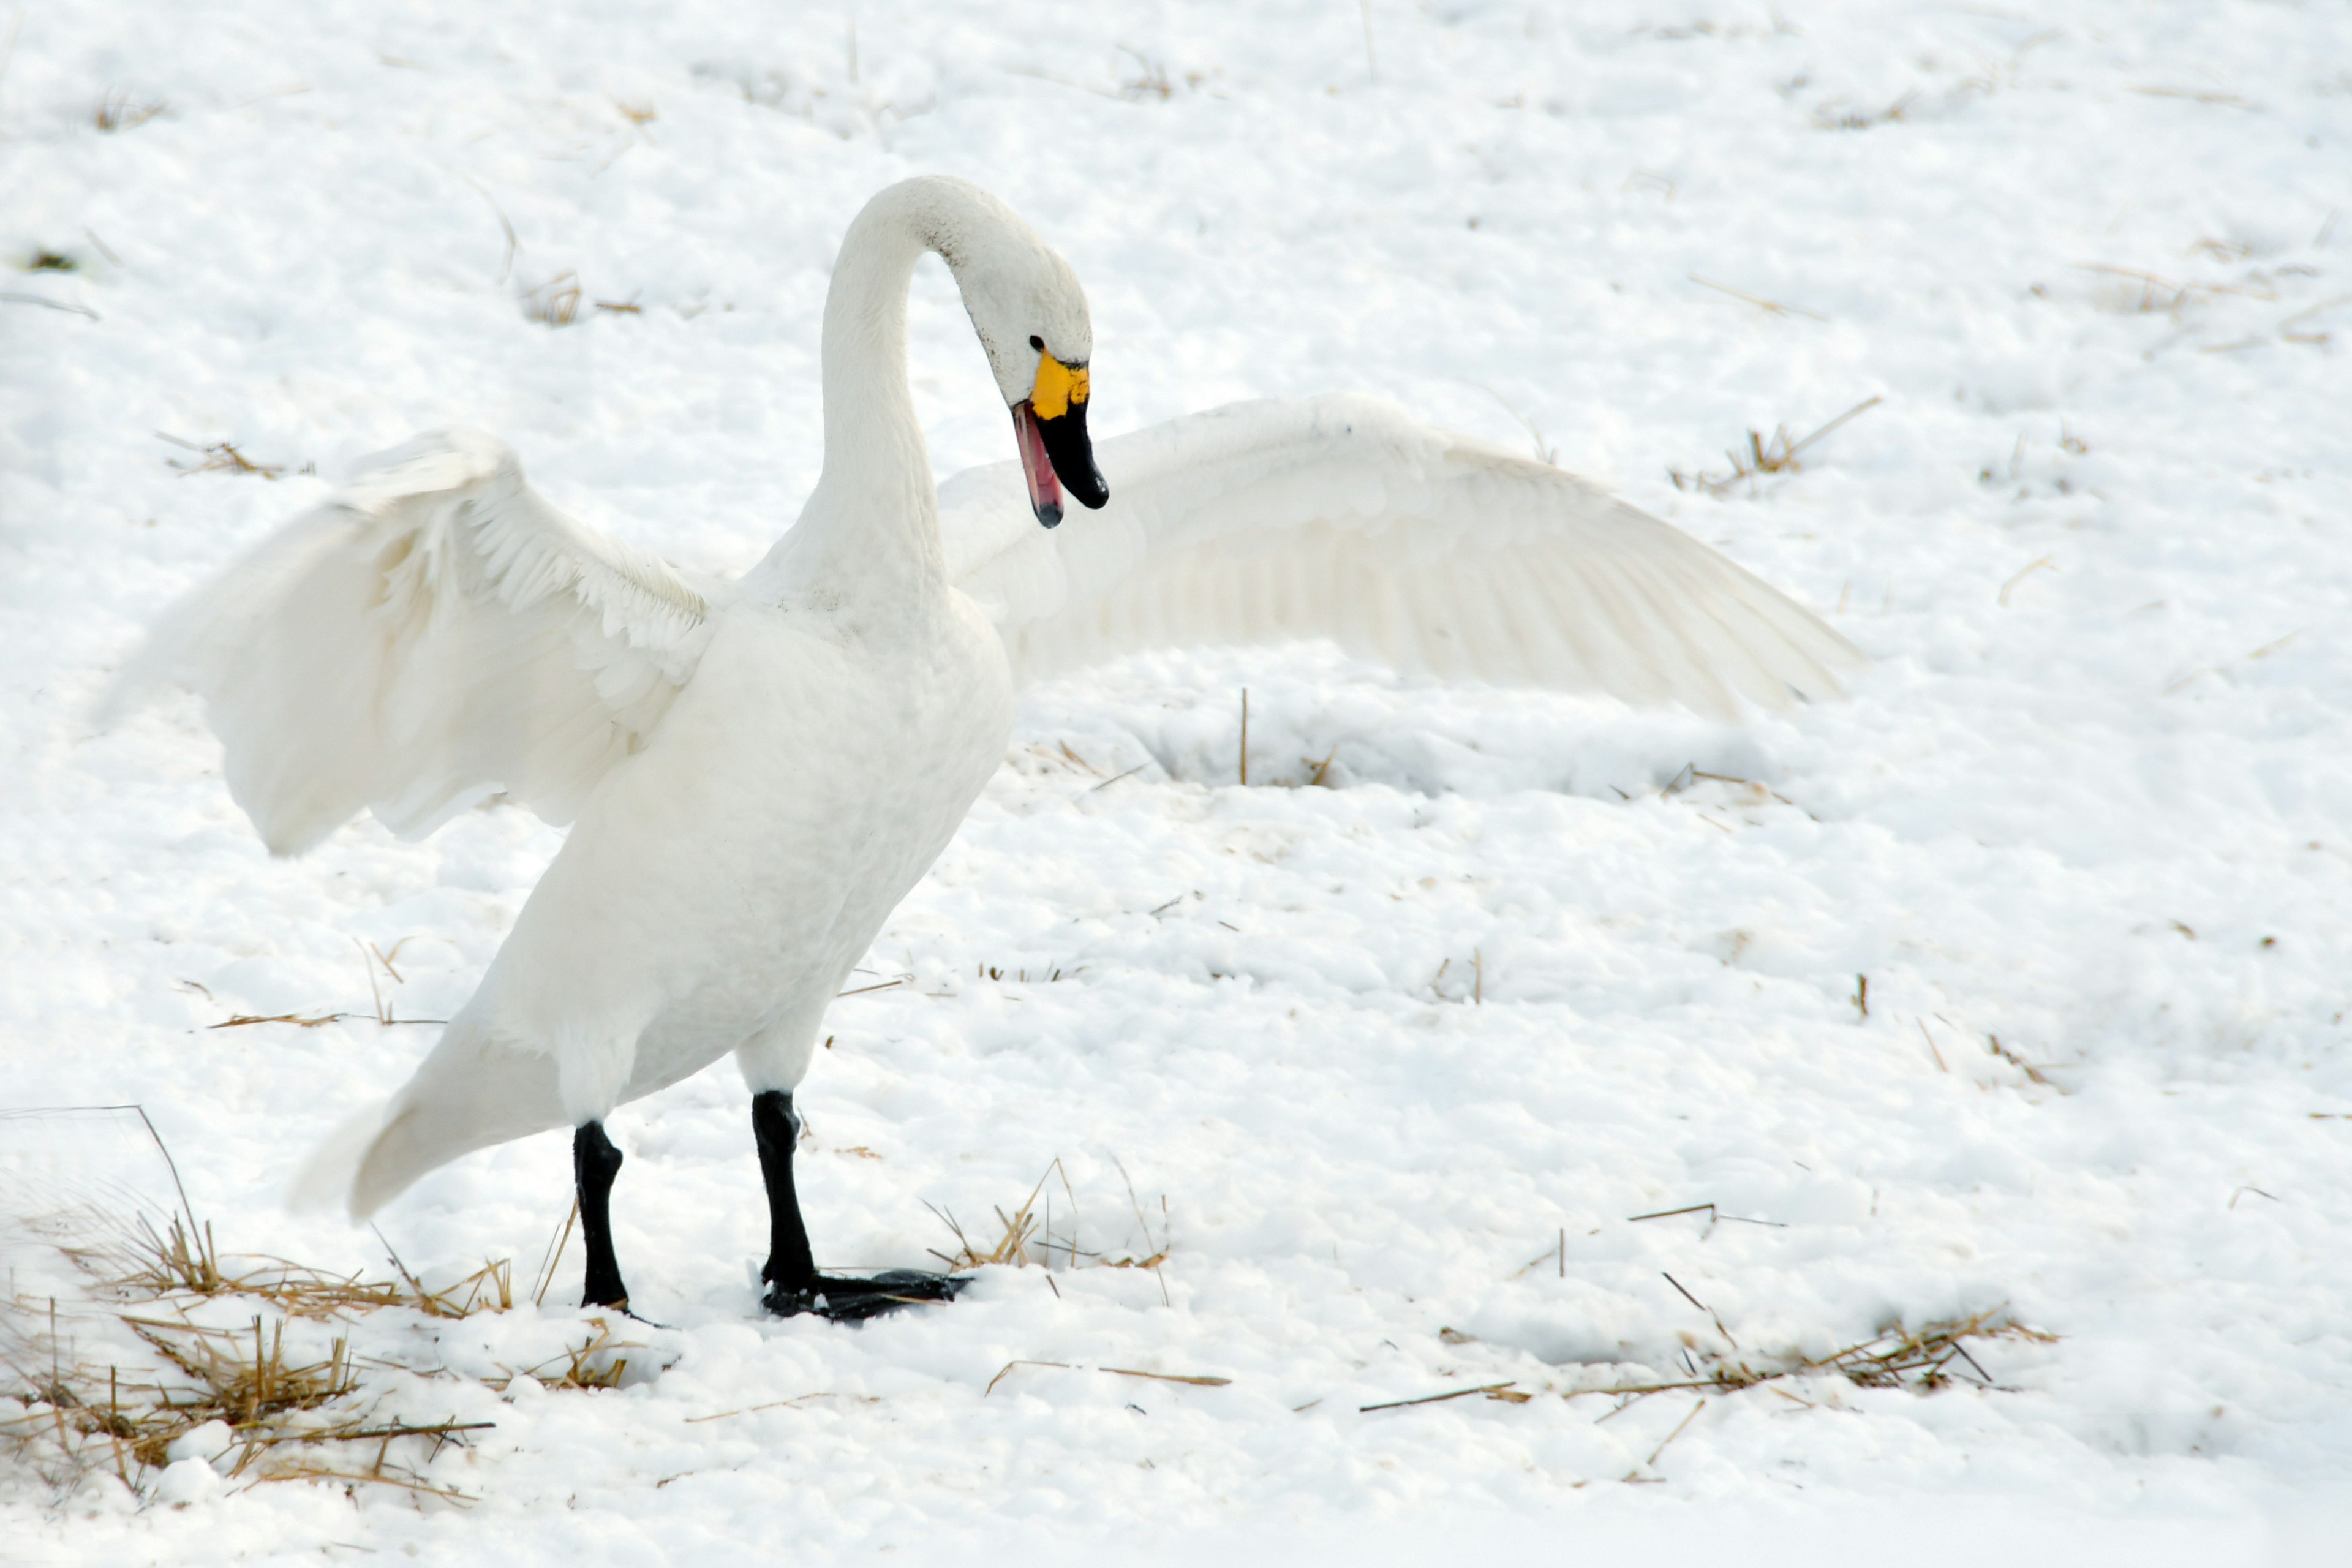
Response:
[[[1030,508],[1051,529],[1061,522],[1063,491],[1089,508],[1110,501],[1087,437],[1094,324],[1087,320],[1087,292],[1077,287],[1077,273],[1025,223],[1018,235],[995,237],[1002,244],[988,247],[993,254],[969,256],[955,270],[971,327],[988,350],[988,369],[1014,411]],[[950,256],[953,261],[957,259]]]

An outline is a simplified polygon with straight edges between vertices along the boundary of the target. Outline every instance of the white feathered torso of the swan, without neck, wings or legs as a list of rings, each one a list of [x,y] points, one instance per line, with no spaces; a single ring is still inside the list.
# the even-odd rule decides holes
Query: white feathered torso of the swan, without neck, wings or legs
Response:
[[[456,1154],[600,1121],[729,1051],[755,1093],[800,1084],[826,1004],[1004,759],[1014,708],[995,628],[953,590],[889,639],[826,621],[727,611],[381,1131],[336,1145],[360,1164],[332,1197],[369,1213]]]

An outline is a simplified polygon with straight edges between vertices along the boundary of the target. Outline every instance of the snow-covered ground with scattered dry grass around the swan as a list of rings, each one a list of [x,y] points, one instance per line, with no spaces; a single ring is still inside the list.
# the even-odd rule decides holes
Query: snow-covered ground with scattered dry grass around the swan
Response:
[[[381,1262],[275,1197],[430,1041],[367,1018],[355,940],[405,940],[388,1004],[445,1016],[557,835],[360,823],[273,863],[193,703],[94,733],[106,672],[423,425],[748,564],[816,473],[833,247],[901,174],[1073,259],[1098,433],[1385,393],[1877,658],[1740,726],[1315,646],[1035,689],[868,961],[913,978],[835,1009],[811,1225],[922,1262],[924,1201],[993,1232],[1058,1159],[1054,1234],[1162,1267],[762,1321],[720,1065],[614,1124],[673,1326],[628,1387],[468,1380],[583,1338],[576,1251],[543,1309],[360,1331],[456,1373],[383,1373],[388,1408],[496,1422],[430,1465],[475,1502],[14,1472],[0,1556],[1722,1561],[1736,1528],[1764,1561],[2293,1561],[2256,1521],[2352,1465],[2352,16],[2018,5],[0,21],[0,1105],[146,1103],[223,1246]],[[946,270],[915,294],[934,461],[1009,456]],[[1865,397],[1802,473],[1668,480]],[[212,442],[285,473],[174,468]],[[205,1027],[292,1011],[360,1018]],[[527,1140],[383,1229],[527,1276],[567,1182]],[[1773,1225],[1630,1222],[1693,1204]],[[1562,1396],[2002,1302],[2058,1340],[1978,1342],[1994,1389]],[[990,1392],[1011,1361],[1073,1366]],[[1498,1382],[1536,1396],[1359,1413]]]

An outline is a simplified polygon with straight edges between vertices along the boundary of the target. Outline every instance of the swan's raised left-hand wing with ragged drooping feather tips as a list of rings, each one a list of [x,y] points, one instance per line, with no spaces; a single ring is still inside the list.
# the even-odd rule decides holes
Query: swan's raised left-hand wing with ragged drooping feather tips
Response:
[[[101,719],[195,686],[282,856],[362,806],[421,835],[501,790],[564,823],[694,672],[715,588],[557,512],[503,442],[435,430],[174,607]]]

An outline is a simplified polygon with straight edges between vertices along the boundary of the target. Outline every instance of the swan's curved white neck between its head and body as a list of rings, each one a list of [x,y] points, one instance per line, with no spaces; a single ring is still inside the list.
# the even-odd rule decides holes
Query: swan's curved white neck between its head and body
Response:
[[[790,576],[828,595],[917,604],[946,585],[938,489],[906,383],[906,292],[924,252],[957,261],[946,181],[891,186],[842,237],[826,292],[826,468],[786,536]]]

